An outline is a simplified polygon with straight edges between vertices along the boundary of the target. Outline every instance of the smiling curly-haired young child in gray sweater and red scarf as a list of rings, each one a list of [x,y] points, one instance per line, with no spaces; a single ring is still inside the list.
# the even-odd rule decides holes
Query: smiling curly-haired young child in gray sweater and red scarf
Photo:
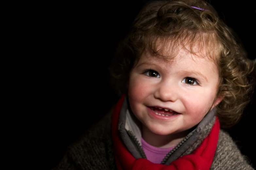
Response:
[[[120,100],[54,169],[253,169],[220,126],[240,119],[254,65],[211,5],[148,3],[111,66]]]

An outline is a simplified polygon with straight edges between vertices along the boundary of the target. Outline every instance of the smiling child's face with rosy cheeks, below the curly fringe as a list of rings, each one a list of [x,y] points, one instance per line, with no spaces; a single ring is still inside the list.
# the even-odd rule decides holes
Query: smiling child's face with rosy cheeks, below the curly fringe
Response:
[[[213,61],[186,50],[180,49],[172,62],[144,52],[130,72],[130,108],[154,134],[183,132],[198,124],[221,101],[214,101],[218,80]]]

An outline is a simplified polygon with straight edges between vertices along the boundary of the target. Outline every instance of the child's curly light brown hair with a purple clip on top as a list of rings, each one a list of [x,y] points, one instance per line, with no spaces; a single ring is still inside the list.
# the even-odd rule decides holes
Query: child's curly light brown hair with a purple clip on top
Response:
[[[111,85],[118,95],[127,92],[129,73],[145,49],[155,56],[166,57],[162,54],[163,48],[157,48],[159,38],[162,47],[172,41],[183,47],[189,44],[187,50],[194,54],[195,43],[208,49],[208,57],[214,60],[219,73],[216,96],[224,96],[216,106],[221,126],[237,123],[255,85],[255,60],[247,58],[234,33],[215,9],[200,0],[153,1],[142,8],[110,65]]]

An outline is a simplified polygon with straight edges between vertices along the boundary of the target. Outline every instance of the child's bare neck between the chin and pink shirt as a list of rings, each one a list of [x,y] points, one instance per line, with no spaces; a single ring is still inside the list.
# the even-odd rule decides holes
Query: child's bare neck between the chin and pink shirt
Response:
[[[169,134],[157,135],[152,133],[147,127],[142,125],[142,137],[149,144],[158,148],[170,148],[179,144],[179,142],[190,132],[190,130]]]

